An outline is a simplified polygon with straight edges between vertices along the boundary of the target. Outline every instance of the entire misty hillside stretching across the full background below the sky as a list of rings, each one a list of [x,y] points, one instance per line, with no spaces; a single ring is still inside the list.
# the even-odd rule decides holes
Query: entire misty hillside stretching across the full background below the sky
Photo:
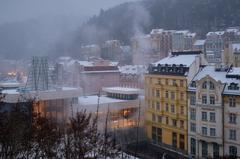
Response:
[[[0,55],[77,56],[81,45],[111,39],[129,44],[132,36],[153,28],[190,29],[204,37],[208,31],[239,26],[239,8],[240,0],[143,0],[101,10],[83,25],[69,17],[9,23],[0,26]]]

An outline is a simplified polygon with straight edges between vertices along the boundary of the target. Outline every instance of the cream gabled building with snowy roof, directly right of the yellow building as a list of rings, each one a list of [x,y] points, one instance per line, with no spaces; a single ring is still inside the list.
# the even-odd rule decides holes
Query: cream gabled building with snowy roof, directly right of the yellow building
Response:
[[[189,154],[196,158],[223,156],[222,92],[229,67],[206,66],[189,86]]]

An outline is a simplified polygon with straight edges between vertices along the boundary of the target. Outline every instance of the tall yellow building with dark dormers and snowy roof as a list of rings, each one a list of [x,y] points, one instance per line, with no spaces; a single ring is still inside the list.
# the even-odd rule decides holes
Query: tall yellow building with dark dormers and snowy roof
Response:
[[[199,52],[175,52],[145,75],[145,124],[155,144],[187,153],[187,86],[202,64]]]

